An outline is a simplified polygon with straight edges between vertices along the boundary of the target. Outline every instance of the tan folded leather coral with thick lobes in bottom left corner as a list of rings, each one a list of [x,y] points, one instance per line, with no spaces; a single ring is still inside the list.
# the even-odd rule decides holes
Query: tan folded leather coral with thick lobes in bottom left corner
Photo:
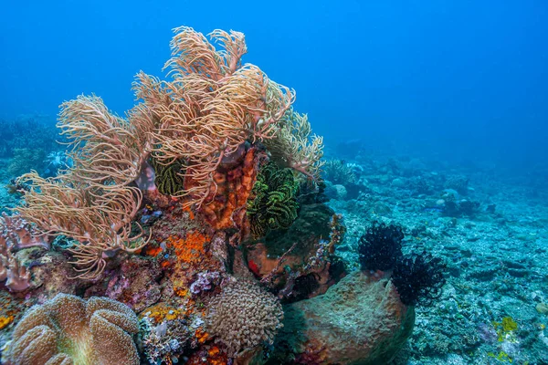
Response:
[[[14,329],[8,364],[138,365],[132,309],[107,297],[67,294],[30,308]]]

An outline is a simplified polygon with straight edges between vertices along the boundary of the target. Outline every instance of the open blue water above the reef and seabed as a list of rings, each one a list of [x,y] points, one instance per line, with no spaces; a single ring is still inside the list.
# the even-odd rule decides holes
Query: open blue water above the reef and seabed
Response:
[[[116,4],[115,4],[116,3]],[[547,155],[545,1],[4,2],[0,118],[95,93],[119,113],[161,76],[171,29],[247,36],[251,62],[297,90],[328,147],[349,138],[455,162]]]

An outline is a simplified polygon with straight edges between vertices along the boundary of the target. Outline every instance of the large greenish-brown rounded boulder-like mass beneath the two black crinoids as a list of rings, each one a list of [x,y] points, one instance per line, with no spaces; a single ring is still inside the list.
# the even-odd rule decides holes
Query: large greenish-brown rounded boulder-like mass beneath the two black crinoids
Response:
[[[291,304],[285,313],[277,349],[289,349],[280,357],[299,364],[385,364],[415,321],[414,309],[399,301],[388,280],[361,271],[322,296]]]

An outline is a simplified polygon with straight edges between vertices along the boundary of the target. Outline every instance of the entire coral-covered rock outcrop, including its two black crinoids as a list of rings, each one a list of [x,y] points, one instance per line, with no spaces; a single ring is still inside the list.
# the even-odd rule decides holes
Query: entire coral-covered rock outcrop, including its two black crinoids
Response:
[[[443,265],[402,255],[402,228],[374,224],[349,272],[322,139],[294,90],[242,63],[242,33],[174,33],[168,79],[139,73],[125,118],[97,96],[64,102],[68,162],[13,183],[21,202],[0,218],[3,363],[393,359],[415,306],[439,296]]]

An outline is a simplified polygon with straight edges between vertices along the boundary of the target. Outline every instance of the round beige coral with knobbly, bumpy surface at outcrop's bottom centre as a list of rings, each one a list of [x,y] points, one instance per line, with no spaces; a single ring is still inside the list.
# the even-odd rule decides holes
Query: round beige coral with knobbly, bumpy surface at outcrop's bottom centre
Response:
[[[283,310],[276,297],[248,280],[234,280],[209,304],[207,330],[223,342],[230,356],[262,344],[272,344],[283,327]]]

